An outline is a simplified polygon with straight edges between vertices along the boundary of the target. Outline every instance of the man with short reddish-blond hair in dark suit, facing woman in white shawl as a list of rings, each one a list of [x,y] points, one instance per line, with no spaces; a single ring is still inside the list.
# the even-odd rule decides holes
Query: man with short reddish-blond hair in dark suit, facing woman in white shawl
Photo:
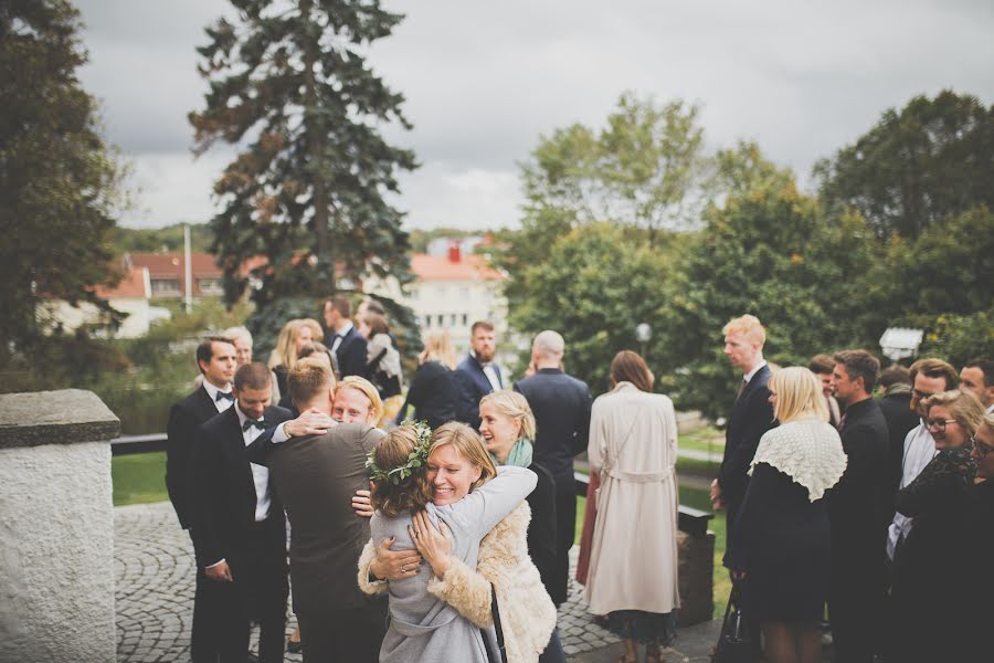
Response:
[[[766,388],[770,367],[763,359],[765,329],[755,316],[743,315],[728,323],[721,332],[725,334],[725,355],[743,376],[728,418],[718,478],[711,482],[711,503],[716,509],[726,511],[727,528],[731,532],[749,487],[747,472],[752,456],[760,438],[773,428],[774,422]]]

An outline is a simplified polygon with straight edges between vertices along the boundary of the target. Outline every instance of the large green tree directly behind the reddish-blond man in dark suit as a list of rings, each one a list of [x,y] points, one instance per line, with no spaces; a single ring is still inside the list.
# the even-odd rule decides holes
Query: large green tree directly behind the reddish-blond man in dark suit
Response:
[[[861,345],[847,298],[873,264],[875,242],[858,215],[827,223],[814,198],[753,146],[718,161],[739,182],[670,270],[664,309],[663,388],[680,407],[725,417],[737,377],[722,356],[722,326],[745,313],[766,327],[766,358],[804,364],[821,351]]]

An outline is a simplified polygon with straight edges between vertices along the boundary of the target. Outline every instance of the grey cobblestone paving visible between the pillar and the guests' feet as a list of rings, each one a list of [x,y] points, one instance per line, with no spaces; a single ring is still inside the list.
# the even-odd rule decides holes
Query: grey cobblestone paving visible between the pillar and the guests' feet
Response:
[[[115,508],[114,537],[118,662],[189,661],[193,551],[189,537],[176,523],[172,506],[167,502]],[[572,552],[575,564],[575,547]],[[621,644],[593,622],[581,592],[582,587],[571,581],[569,600],[559,610],[567,656],[583,663],[613,662]],[[295,625],[292,618],[287,634]],[[667,661],[707,661],[716,636],[715,621],[681,630],[676,649],[667,652]],[[287,654],[286,660],[302,659]]]

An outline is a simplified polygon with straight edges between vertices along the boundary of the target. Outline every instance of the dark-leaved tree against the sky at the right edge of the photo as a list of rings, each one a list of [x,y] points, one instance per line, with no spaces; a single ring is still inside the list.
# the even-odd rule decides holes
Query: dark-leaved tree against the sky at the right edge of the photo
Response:
[[[880,238],[913,240],[975,204],[994,207],[994,106],[951,91],[888,109],[815,167],[827,207],[858,210]]]

